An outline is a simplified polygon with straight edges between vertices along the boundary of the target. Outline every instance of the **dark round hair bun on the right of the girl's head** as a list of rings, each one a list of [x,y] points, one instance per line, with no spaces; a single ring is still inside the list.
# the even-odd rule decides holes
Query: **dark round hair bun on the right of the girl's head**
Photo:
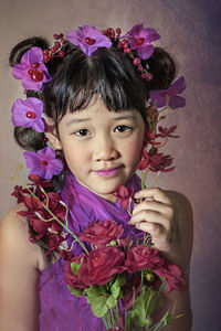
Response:
[[[154,78],[149,82],[150,89],[167,89],[176,77],[177,68],[171,56],[161,47],[155,47],[152,55],[147,60]]]

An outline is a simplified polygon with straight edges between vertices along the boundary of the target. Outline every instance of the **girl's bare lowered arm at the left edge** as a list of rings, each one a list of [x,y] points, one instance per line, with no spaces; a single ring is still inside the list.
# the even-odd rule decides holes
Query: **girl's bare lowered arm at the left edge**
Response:
[[[29,242],[28,224],[17,215],[19,209],[0,223],[0,330],[36,331],[42,254]]]

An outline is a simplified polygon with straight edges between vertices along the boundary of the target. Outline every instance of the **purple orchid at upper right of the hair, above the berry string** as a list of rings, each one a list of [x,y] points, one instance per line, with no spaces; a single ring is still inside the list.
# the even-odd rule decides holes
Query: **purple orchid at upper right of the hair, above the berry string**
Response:
[[[141,23],[136,24],[126,34],[131,50],[137,50],[140,58],[146,60],[154,53],[151,43],[160,38],[154,29],[145,29]]]

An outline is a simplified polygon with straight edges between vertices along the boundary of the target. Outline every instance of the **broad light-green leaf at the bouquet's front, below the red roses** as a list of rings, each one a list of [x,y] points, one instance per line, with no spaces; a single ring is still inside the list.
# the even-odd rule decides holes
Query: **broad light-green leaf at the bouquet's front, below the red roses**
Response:
[[[106,286],[93,285],[87,289],[87,302],[92,312],[102,318],[108,309],[116,306],[117,300],[107,291]]]

